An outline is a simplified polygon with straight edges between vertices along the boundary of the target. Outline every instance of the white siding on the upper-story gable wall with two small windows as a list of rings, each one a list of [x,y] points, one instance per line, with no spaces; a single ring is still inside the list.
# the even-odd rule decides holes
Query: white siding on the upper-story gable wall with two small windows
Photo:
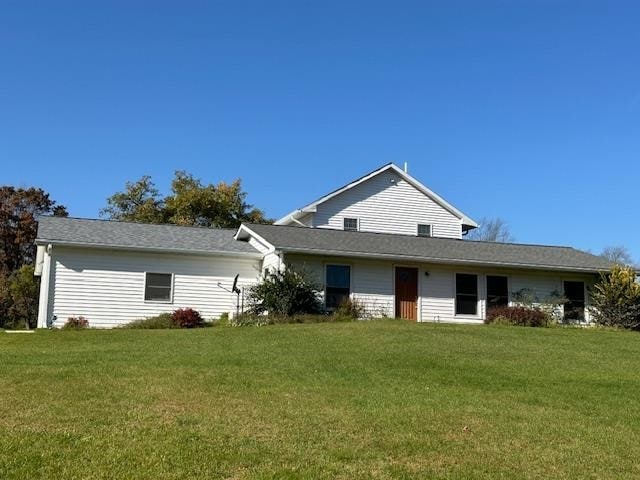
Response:
[[[434,237],[461,238],[461,220],[392,171],[385,171],[317,206],[313,226],[344,228],[357,218],[362,232],[416,235],[430,224]]]

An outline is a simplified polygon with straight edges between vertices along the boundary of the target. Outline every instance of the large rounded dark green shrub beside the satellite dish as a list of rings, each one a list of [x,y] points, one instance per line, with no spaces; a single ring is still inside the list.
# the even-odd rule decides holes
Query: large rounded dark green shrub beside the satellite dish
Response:
[[[249,313],[286,316],[319,313],[322,311],[319,290],[304,271],[291,268],[283,272],[267,271],[260,283],[249,288]]]

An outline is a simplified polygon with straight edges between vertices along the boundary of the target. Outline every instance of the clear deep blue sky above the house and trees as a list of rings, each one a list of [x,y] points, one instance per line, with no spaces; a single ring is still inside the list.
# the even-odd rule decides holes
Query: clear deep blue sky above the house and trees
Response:
[[[0,3],[0,183],[96,217],[243,179],[278,217],[395,161],[521,242],[640,259],[640,3]]]

